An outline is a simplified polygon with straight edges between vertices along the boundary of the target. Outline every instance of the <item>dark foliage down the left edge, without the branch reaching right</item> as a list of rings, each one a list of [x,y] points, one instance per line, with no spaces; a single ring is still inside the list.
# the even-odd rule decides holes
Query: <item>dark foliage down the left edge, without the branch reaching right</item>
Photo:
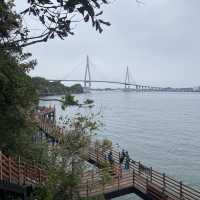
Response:
[[[0,47],[21,28],[13,6],[12,1],[0,1]],[[16,46],[0,50],[0,149],[6,154],[43,160],[46,145],[33,144],[36,124],[31,113],[38,104],[38,95],[27,75],[36,65],[30,56]]]

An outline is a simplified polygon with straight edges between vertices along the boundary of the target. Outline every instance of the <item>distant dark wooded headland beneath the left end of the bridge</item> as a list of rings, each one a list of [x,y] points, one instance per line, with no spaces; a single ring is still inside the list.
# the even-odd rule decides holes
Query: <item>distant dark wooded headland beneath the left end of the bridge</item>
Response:
[[[42,77],[33,77],[32,83],[39,96],[83,93],[81,84],[74,84],[67,87],[61,82],[50,82]]]

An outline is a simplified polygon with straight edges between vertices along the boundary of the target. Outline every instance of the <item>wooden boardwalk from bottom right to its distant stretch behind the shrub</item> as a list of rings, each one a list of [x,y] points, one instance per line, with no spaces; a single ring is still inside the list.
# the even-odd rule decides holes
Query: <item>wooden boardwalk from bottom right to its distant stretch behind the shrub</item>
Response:
[[[42,129],[47,132],[55,129],[59,138],[62,138],[63,130],[58,129],[55,125],[50,125],[50,121],[47,123],[44,120],[40,124],[42,124]],[[200,190],[186,186],[181,181],[132,159],[130,160],[130,168],[120,172],[120,168],[123,168],[123,166],[119,164],[119,152],[114,149],[111,150],[115,160],[115,164],[110,170],[111,180],[105,182],[101,173],[101,163],[105,162],[105,157],[109,151],[94,144],[88,150],[87,161],[97,166],[97,170],[83,174],[80,184],[82,197],[104,194],[106,198],[110,199],[128,193],[136,193],[143,199],[200,200]]]

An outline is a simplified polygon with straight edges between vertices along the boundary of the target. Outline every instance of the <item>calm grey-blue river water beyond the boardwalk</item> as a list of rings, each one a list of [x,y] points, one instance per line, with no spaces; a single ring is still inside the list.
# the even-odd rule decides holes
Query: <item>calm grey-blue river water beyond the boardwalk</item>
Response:
[[[134,160],[200,189],[200,94],[92,91],[76,97],[93,99],[95,111],[101,111],[99,137],[118,143]],[[63,115],[60,104],[53,104],[57,116]]]

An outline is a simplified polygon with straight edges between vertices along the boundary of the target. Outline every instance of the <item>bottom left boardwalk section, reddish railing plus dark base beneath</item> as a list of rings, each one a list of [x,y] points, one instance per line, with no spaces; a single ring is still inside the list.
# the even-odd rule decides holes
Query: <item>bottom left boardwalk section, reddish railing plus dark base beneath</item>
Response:
[[[23,200],[32,191],[32,186],[44,183],[47,173],[34,162],[10,157],[0,151],[0,199],[21,197]]]

